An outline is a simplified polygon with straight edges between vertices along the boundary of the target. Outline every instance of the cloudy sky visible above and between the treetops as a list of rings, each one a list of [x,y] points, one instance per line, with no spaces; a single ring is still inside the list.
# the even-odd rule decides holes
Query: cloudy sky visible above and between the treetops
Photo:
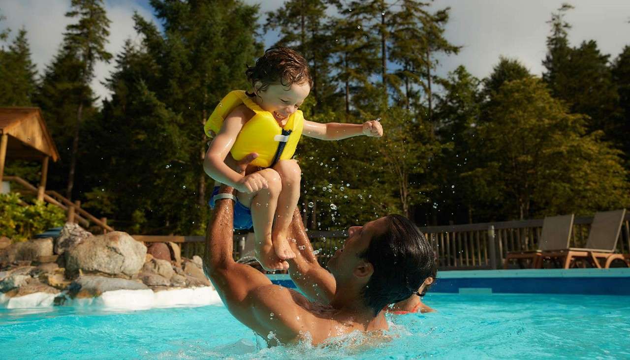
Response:
[[[260,4],[263,13],[284,3],[284,0],[243,1]],[[572,45],[596,40],[600,50],[611,55],[611,60],[624,46],[630,45],[630,0],[435,0],[433,8],[451,8],[445,37],[462,46],[458,55],[438,57],[438,75],[445,76],[455,67],[465,65],[473,76],[481,79],[490,74],[501,55],[520,60],[533,74],[540,75],[549,34],[546,21],[564,2],[575,6],[566,16],[573,25],[569,33]],[[104,3],[112,21],[107,50],[113,54],[122,49],[127,38],[140,40],[133,27],[134,11],[157,23],[148,0],[105,0]],[[52,61],[64,28],[71,22],[64,16],[69,8],[70,0],[0,0],[0,11],[6,17],[0,28],[12,30],[9,41],[18,29],[26,28],[32,59],[40,74]],[[261,21],[265,18],[261,16]],[[276,39],[277,33],[273,31],[263,37],[266,47]],[[110,97],[101,82],[113,66],[113,62],[96,65],[92,86],[101,98]]]

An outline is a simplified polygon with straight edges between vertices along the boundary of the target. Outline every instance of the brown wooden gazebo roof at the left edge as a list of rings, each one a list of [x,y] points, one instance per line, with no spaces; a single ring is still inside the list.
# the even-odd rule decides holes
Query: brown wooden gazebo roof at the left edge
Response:
[[[49,156],[59,160],[59,152],[43,121],[39,108],[0,108],[0,134],[8,134],[8,159],[36,160]]]

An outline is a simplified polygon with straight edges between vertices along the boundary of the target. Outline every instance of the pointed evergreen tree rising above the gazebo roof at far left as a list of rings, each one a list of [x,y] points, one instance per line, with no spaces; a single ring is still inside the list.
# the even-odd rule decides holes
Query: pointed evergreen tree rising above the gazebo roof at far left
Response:
[[[26,30],[21,29],[0,56],[0,104],[30,106],[37,86],[35,74]]]

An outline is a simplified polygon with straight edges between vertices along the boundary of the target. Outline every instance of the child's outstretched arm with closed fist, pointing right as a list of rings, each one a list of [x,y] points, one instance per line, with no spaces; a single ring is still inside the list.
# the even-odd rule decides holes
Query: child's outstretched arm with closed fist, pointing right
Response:
[[[377,120],[365,121],[363,124],[321,124],[304,120],[304,130],[302,130],[302,133],[307,137],[318,138],[319,140],[341,140],[358,135],[382,137],[383,127]]]

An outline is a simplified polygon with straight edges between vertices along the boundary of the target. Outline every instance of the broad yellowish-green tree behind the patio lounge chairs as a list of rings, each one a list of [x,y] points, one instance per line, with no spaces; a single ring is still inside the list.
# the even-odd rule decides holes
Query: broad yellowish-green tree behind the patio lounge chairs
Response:
[[[520,219],[591,213],[628,203],[619,153],[585,135],[584,116],[571,115],[544,83],[530,77],[503,84],[476,147],[486,164],[468,176],[486,179],[504,214]]]

